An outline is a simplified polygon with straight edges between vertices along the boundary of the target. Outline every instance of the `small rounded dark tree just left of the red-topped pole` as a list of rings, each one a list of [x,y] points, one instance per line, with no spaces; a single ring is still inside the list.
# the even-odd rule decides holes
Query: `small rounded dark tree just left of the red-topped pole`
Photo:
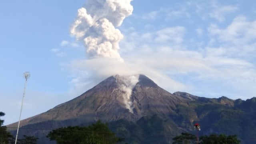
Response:
[[[196,144],[197,142],[196,136],[187,132],[181,133],[180,136],[176,136],[172,140],[172,144]]]

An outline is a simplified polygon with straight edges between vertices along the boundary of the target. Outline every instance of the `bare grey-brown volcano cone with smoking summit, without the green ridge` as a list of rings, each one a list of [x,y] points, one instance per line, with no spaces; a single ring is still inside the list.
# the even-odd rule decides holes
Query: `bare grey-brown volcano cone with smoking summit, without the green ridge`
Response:
[[[168,116],[176,109],[175,105],[185,99],[160,88],[144,75],[115,75],[73,100],[22,120],[21,126],[70,119],[81,122],[110,122],[123,118],[137,121],[142,116],[153,114]]]

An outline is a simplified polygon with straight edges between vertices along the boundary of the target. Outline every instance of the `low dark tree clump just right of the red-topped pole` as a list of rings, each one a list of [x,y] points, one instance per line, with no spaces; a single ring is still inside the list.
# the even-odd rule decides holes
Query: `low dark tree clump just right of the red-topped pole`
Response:
[[[200,136],[200,144],[240,144],[240,140],[236,135],[211,134],[210,136]]]

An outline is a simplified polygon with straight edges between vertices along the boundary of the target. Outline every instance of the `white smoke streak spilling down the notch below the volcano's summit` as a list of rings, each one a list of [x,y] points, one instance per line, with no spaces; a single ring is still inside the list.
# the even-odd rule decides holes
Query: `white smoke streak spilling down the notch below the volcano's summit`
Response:
[[[139,75],[135,76],[120,76],[118,77],[120,81],[122,81],[124,84],[120,85],[120,90],[124,92],[123,99],[125,107],[133,113],[133,102],[131,100],[132,97],[132,89],[136,84],[139,82]]]

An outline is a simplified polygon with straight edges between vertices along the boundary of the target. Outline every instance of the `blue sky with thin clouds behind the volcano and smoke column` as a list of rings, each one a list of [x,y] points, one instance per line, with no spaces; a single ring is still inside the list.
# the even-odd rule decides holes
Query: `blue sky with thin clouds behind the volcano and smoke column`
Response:
[[[82,40],[71,36],[85,2],[0,2],[4,124],[18,121],[25,71],[31,77],[22,119],[71,100],[113,74],[142,73],[171,93],[255,96],[253,0],[133,0],[132,14],[116,26],[123,35],[117,41],[119,60],[92,57]]]

